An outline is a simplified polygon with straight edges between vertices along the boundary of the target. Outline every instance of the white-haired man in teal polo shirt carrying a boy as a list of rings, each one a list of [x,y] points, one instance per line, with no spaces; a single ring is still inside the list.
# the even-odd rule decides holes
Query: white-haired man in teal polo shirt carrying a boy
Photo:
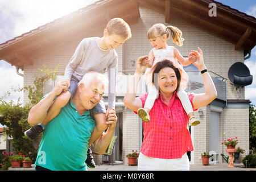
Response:
[[[114,133],[117,116],[112,111],[106,119],[108,131],[90,141],[92,131],[96,125],[90,115],[90,109],[100,102],[104,94],[107,81],[104,75],[89,72],[79,82],[75,96],[59,111],[47,115],[56,96],[67,89],[66,82],[60,81],[53,91],[45,96],[28,114],[28,123],[37,125],[48,118],[49,123],[44,130],[40,142],[36,170],[81,170],[86,171],[86,156],[88,144],[94,142],[94,150],[104,154]],[[57,116],[56,116],[57,115]],[[96,136],[92,136],[96,137]]]

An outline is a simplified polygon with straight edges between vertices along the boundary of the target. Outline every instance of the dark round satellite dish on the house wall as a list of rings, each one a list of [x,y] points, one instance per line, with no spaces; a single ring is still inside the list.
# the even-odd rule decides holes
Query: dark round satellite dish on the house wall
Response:
[[[247,86],[253,82],[249,69],[241,62],[234,63],[228,72],[229,80],[236,86]]]

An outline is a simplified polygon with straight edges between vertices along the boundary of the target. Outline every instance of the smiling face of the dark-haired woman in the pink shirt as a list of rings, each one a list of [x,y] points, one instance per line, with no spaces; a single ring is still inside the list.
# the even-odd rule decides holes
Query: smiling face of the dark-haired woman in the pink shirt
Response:
[[[174,93],[177,89],[177,77],[174,69],[166,67],[160,70],[158,75],[159,90],[162,93]]]

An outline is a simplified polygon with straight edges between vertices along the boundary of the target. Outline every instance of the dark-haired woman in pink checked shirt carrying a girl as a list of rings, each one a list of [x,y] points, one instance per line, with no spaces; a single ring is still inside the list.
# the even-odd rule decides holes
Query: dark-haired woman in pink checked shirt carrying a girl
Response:
[[[205,93],[188,93],[193,110],[208,105],[217,97],[216,88],[204,65],[203,52],[198,48],[191,51],[196,56],[193,63],[201,72]],[[143,75],[147,56],[140,57],[137,68],[123,100],[135,113],[144,106],[147,95],[136,96],[137,86]],[[191,135],[188,130],[186,114],[176,90],[180,84],[180,71],[171,61],[161,61],[156,65],[152,84],[159,88],[159,96],[150,111],[150,122],[143,122],[144,139],[138,159],[138,169],[147,170],[189,170],[187,151],[193,151]]]

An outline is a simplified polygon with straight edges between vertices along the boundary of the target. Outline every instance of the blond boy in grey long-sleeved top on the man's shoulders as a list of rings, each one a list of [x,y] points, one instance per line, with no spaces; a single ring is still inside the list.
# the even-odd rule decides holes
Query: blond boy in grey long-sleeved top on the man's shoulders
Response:
[[[67,81],[68,92],[67,89],[65,89],[65,92],[61,93],[60,96],[56,98],[48,111],[50,113],[51,110],[64,107],[68,103],[76,93],[77,84],[85,73],[89,71],[105,73],[105,69],[108,68],[108,110],[106,111],[105,109],[103,97],[102,100],[90,110],[90,113],[96,120],[96,126],[93,133],[96,133],[98,137],[100,137],[103,131],[108,128],[105,123],[105,118],[108,117],[110,110],[114,110],[115,105],[115,81],[117,77],[118,61],[117,52],[115,52],[114,48],[121,46],[127,39],[131,38],[131,30],[129,25],[123,19],[114,18],[106,25],[103,34],[104,36],[102,36],[102,38],[85,38],[80,42],[65,69],[64,78]],[[99,94],[98,90],[95,90],[94,92]],[[52,118],[44,119],[42,123],[32,126],[32,128],[25,131],[24,134],[31,139],[35,139],[36,136],[45,129],[47,125],[46,121],[51,121],[51,119],[55,117],[56,115]],[[102,128],[105,130],[102,130]],[[98,137],[90,138],[89,146]],[[91,154],[92,151],[89,148],[86,164],[88,167],[94,168],[95,163]]]

